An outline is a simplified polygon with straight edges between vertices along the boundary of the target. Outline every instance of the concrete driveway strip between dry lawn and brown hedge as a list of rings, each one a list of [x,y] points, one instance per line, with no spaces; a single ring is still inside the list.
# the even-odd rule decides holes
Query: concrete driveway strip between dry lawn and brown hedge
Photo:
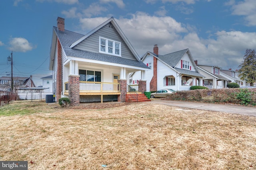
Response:
[[[242,115],[248,115],[248,116],[256,116],[256,107],[184,102],[184,101],[172,101],[172,100],[151,100],[151,103],[163,104],[168,106],[186,107],[186,108],[192,108],[192,109],[222,111],[227,113],[236,113],[236,114],[242,114]]]

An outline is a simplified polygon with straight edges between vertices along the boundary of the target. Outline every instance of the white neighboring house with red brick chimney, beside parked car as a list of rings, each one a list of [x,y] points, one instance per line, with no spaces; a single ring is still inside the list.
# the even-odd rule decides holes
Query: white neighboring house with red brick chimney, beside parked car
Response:
[[[190,86],[202,85],[203,75],[199,73],[189,49],[158,55],[158,45],[154,45],[153,51],[142,57],[142,62],[151,68],[145,73],[147,91],[190,90]],[[136,89],[140,77],[140,71],[130,75],[133,88]]]

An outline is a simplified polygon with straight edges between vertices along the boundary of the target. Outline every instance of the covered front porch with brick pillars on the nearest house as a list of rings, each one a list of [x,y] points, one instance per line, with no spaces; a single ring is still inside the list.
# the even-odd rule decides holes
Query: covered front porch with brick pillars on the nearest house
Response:
[[[69,61],[64,66],[62,95],[78,104],[99,100],[125,102],[126,93],[130,90],[127,80],[130,72],[135,70],[138,71],[138,68]],[[144,77],[145,70],[142,70],[141,80]],[[146,82],[140,84],[139,89],[146,91]]]

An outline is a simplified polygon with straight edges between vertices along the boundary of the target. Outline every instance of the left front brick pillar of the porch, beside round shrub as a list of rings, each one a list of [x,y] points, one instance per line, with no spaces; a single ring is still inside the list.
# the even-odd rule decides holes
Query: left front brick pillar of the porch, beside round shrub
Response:
[[[79,95],[79,76],[68,76],[68,97],[71,106],[78,106],[80,103]]]

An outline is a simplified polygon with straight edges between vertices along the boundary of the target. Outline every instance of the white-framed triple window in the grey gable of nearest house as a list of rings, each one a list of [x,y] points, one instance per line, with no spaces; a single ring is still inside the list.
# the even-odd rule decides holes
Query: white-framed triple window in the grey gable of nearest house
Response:
[[[99,53],[121,57],[121,43],[118,41],[100,37]]]

